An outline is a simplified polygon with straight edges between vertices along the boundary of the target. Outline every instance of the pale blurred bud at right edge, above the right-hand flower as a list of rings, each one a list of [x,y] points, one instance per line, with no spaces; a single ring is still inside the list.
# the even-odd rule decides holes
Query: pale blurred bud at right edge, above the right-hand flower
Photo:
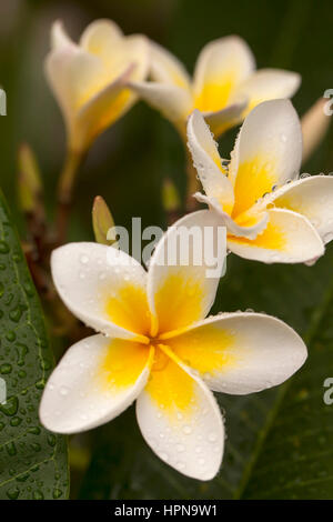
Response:
[[[331,117],[325,112],[327,100],[320,98],[303,116],[303,163],[315,152],[323,141],[331,123]]]

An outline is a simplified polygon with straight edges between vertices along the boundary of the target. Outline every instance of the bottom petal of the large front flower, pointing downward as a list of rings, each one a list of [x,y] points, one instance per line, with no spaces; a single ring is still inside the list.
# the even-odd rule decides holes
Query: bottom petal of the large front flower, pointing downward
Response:
[[[213,479],[224,445],[219,406],[201,379],[165,352],[157,349],[149,382],[137,401],[140,430],[167,464],[193,479]]]

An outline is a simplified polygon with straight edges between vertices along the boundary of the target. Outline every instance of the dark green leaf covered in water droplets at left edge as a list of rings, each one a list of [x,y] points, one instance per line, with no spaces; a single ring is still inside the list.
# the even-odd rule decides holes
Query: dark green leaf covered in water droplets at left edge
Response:
[[[39,299],[0,194],[0,499],[68,496],[65,438],[44,430],[38,409],[53,368]],[[3,398],[2,398],[3,399]]]

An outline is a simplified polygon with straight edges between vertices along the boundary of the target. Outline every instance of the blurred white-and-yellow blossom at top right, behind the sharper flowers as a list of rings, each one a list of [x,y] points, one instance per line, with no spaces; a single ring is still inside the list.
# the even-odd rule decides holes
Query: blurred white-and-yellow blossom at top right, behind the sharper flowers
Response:
[[[151,42],[150,76],[150,82],[132,81],[132,89],[182,134],[188,117],[199,109],[215,137],[241,122],[262,101],[292,97],[301,82],[295,72],[255,70],[249,46],[235,36],[214,40],[202,49],[193,80],[175,57]]]

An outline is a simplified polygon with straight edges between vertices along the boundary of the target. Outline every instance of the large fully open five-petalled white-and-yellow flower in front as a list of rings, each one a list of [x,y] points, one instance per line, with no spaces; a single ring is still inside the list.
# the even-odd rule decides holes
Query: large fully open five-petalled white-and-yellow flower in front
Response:
[[[192,227],[215,228],[216,217],[194,212],[169,229],[148,272],[103,244],[71,243],[53,252],[62,300],[101,333],[65,353],[47,383],[40,418],[51,431],[74,433],[109,422],[137,399],[151,449],[181,473],[209,480],[224,444],[210,390],[244,394],[280,384],[303,364],[306,348],[285,323],[264,314],[204,319],[219,278],[206,278],[206,265],[194,262],[201,244],[193,243],[189,265],[163,264],[165,251],[176,253],[174,239],[183,244]]]

